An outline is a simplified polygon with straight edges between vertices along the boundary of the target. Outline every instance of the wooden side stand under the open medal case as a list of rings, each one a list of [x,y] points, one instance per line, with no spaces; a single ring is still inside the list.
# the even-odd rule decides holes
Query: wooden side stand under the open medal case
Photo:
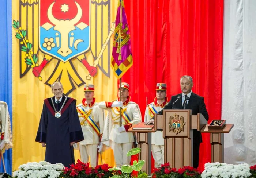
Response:
[[[211,162],[224,162],[224,133],[229,133],[233,127],[234,124],[226,124],[222,130],[208,130],[208,125],[205,125],[201,130],[210,133]]]

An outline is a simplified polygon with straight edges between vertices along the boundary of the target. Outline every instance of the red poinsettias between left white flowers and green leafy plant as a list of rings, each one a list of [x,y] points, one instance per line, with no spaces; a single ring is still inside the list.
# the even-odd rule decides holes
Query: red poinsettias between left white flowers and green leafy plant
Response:
[[[95,168],[89,167],[89,163],[83,163],[78,160],[78,163],[70,165],[70,167],[65,167],[63,173],[61,173],[62,178],[109,178],[113,175],[121,174],[119,170],[109,170],[108,164],[98,165]]]

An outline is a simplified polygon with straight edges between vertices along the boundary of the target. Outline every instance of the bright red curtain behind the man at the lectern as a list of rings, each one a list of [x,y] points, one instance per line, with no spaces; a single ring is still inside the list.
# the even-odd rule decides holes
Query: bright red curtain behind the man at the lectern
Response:
[[[205,98],[209,120],[221,118],[223,0],[124,0],[133,66],[122,77],[144,118],[157,82],[167,96],[181,93],[180,77],[192,76],[192,91]],[[199,169],[211,162],[210,135],[203,134]]]

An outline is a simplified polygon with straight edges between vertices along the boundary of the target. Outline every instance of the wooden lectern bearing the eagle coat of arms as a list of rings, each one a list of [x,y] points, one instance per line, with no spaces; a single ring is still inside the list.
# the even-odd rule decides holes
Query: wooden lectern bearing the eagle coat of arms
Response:
[[[207,124],[202,114],[192,116],[191,113],[191,110],[172,109],[163,110],[162,116],[155,115],[155,129],[163,130],[165,139],[164,162],[177,169],[193,166],[193,129],[200,131]],[[177,128],[172,128],[175,125],[173,120],[176,124],[178,121],[180,126],[177,124]]]

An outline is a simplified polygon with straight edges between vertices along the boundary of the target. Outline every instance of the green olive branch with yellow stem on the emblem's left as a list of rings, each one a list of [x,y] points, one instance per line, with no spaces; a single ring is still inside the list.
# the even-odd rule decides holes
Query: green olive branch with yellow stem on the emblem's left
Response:
[[[38,66],[38,57],[34,54],[33,50],[31,50],[33,44],[29,43],[29,40],[27,39],[27,31],[20,27],[19,20],[13,20],[12,26],[16,29],[15,37],[20,40],[20,44],[22,45],[20,50],[26,52],[25,63],[31,66],[32,68]]]

